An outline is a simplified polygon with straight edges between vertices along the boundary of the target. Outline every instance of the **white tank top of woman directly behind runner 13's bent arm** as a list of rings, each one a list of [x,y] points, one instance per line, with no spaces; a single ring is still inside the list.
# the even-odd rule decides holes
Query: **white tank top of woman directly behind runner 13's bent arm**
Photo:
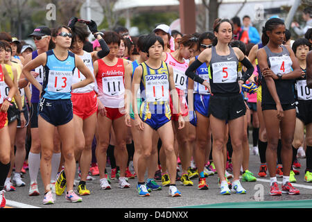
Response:
[[[91,53],[88,53],[87,51],[83,51],[83,55],[79,56],[79,57],[83,60],[83,63],[85,63],[86,67],[88,67],[90,69],[90,71],[93,75],[94,69],[93,69],[93,62],[92,62]],[[85,80],[85,76],[83,76],[83,74],[81,74],[79,69],[76,68],[75,71],[73,71],[72,84],[79,83],[82,80]],[[71,92],[72,93],[87,93],[87,92],[92,92],[93,90],[94,90],[94,83],[90,83],[89,85],[86,85],[85,87],[73,89]]]

